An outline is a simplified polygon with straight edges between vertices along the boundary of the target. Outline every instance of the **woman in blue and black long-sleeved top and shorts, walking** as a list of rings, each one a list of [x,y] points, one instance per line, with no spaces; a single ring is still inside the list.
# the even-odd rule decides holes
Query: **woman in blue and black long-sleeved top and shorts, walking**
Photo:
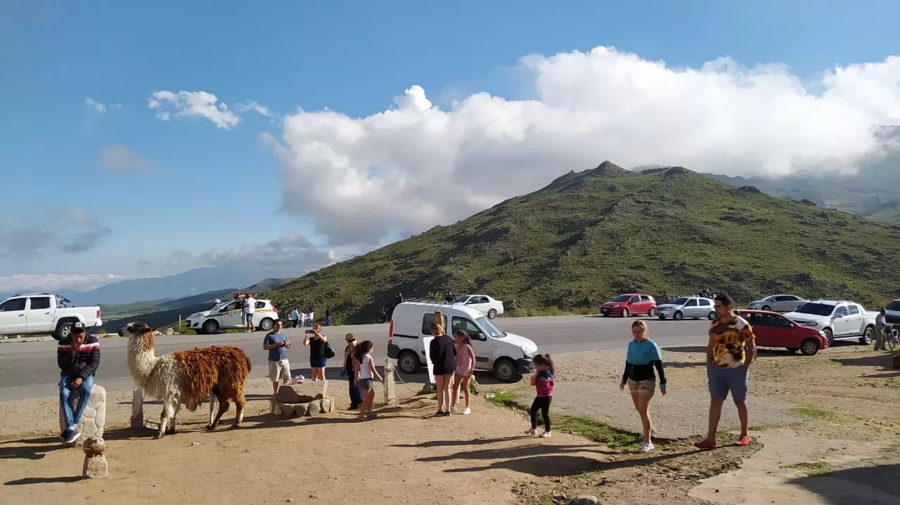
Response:
[[[628,342],[628,357],[625,362],[625,373],[622,374],[622,382],[619,391],[628,385],[631,399],[635,402],[637,413],[641,414],[641,422],[644,424],[644,441],[641,443],[640,452],[653,450],[653,422],[650,421],[650,400],[656,392],[656,376],[653,368],[660,374],[660,391],[666,395],[666,375],[662,372],[662,354],[656,342],[650,340],[650,332],[647,323],[635,321],[631,324],[632,341]]]

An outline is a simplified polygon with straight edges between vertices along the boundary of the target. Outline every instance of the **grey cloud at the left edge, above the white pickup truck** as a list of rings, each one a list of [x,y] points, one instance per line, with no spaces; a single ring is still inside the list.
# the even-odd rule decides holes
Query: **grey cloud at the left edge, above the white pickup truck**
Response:
[[[0,227],[0,258],[23,261],[40,258],[48,251],[84,253],[112,234],[84,208],[70,207],[43,219]]]

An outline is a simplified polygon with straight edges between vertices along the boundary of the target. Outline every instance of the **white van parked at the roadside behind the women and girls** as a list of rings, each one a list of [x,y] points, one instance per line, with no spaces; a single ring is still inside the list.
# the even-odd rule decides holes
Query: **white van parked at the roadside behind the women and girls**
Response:
[[[534,371],[537,345],[525,337],[503,332],[486,315],[470,306],[433,302],[403,302],[394,307],[388,337],[388,356],[404,374],[425,366],[424,338],[431,335],[435,311],[444,313],[447,334],[464,330],[472,337],[475,369],[492,370],[501,382],[516,382]]]

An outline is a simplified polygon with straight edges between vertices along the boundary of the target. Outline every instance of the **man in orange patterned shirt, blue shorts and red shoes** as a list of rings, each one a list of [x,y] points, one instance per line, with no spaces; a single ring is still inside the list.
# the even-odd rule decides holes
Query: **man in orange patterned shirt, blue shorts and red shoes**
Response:
[[[756,358],[756,336],[750,323],[734,314],[734,301],[725,293],[716,296],[716,320],[709,325],[707,342],[707,380],[709,382],[709,430],[707,438],[695,446],[716,448],[716,431],[722,416],[722,404],[731,392],[741,420],[738,446],[752,440],[747,433],[750,413],[747,410],[749,369]]]

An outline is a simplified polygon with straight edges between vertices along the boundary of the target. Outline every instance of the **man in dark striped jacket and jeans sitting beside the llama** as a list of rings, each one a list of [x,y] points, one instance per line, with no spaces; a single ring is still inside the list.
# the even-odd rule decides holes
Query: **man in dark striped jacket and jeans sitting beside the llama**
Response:
[[[78,439],[78,422],[85,413],[87,400],[94,389],[94,375],[100,367],[100,341],[94,335],[85,333],[81,323],[75,323],[72,332],[59,340],[57,347],[59,366],[59,409],[66,416],[66,430],[61,437],[67,443]],[[75,412],[69,396],[72,391],[80,392]]]

